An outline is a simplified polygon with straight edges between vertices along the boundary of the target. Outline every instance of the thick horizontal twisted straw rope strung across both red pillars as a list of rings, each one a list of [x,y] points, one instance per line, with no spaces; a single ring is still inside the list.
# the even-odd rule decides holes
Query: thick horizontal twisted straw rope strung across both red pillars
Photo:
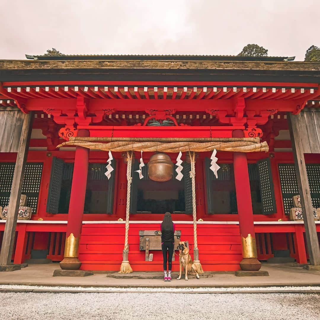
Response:
[[[80,140],[81,139],[81,140]],[[57,148],[65,145],[80,146],[89,149],[100,149],[105,151],[144,151],[144,152],[206,152],[213,149],[220,151],[238,151],[238,152],[268,152],[269,147],[266,141],[253,142],[253,141],[232,141],[230,142],[131,142],[131,141],[115,141],[115,142],[90,142],[82,138],[78,140],[70,140],[60,144]]]

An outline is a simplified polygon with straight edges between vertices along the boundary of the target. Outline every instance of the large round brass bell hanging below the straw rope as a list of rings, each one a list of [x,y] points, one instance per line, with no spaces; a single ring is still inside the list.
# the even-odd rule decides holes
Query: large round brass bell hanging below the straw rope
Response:
[[[163,152],[150,157],[148,176],[153,181],[168,181],[173,176],[173,163],[170,156]]]

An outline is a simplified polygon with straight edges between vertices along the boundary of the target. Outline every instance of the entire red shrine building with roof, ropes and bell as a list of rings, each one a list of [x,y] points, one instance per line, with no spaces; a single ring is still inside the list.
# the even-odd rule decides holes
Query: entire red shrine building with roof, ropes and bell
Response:
[[[320,264],[320,62],[26,58],[0,60],[0,265],[162,271],[165,212],[204,271]]]

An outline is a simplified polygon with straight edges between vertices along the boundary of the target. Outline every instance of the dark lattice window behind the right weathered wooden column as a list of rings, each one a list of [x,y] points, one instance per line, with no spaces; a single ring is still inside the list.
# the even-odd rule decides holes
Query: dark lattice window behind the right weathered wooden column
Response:
[[[280,185],[284,204],[284,214],[293,208],[292,197],[299,194],[299,186],[294,164],[279,164]],[[311,202],[314,208],[320,207],[320,164],[306,164]]]

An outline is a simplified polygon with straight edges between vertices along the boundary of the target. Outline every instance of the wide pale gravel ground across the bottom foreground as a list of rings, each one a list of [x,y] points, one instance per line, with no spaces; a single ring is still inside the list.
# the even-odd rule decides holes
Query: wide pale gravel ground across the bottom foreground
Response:
[[[0,293],[0,319],[320,319],[320,295],[300,293]]]

